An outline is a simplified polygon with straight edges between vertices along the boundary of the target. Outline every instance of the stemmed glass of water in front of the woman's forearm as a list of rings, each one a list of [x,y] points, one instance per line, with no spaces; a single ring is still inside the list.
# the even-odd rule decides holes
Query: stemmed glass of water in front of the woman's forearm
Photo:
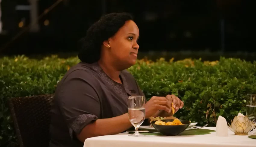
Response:
[[[128,116],[129,121],[135,128],[135,133],[128,136],[144,136],[139,134],[139,126],[145,120],[145,97],[144,96],[129,96],[128,98]]]

